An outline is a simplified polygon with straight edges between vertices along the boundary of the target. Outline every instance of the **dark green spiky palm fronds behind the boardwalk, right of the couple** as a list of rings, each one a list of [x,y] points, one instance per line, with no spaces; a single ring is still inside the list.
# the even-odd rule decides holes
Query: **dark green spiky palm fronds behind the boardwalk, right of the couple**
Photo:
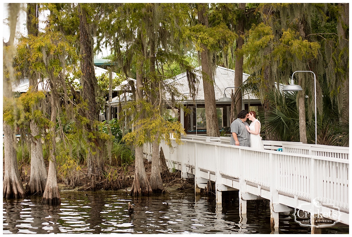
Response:
[[[348,123],[339,121],[336,99],[330,98],[326,80],[323,80],[321,86],[323,89],[323,108],[322,113],[318,113],[317,117],[317,143],[346,146],[349,138]],[[269,116],[262,120],[262,133],[267,129],[269,133],[276,136],[278,141],[300,141],[296,94],[297,92],[281,94],[277,91],[268,93],[271,107]],[[307,98],[305,106],[307,141],[308,143],[315,143],[315,118],[309,117]],[[263,113],[258,113],[258,116],[264,118]],[[264,133],[262,136],[265,138]]]

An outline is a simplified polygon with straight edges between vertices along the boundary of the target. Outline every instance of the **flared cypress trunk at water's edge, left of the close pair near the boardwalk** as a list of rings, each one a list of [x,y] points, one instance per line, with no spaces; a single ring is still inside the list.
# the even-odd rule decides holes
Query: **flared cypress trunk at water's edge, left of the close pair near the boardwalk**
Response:
[[[143,99],[143,49],[140,58],[137,62],[136,67],[136,102],[137,102],[137,114],[139,119],[141,119],[140,112],[143,109],[143,105],[140,100]],[[136,125],[136,131],[140,129],[140,125]],[[138,140],[138,133],[137,138]],[[145,173],[144,163],[143,163],[143,146],[136,145],[135,148],[135,165],[134,165],[134,180],[131,188],[131,195],[133,196],[146,196],[152,193],[152,188],[150,186],[149,180],[147,179],[147,174]]]

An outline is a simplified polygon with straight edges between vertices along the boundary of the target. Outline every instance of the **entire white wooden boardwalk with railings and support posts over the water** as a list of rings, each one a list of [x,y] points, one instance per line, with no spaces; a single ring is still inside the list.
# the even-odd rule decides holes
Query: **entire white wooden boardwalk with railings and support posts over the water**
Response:
[[[339,213],[329,219],[349,225],[348,147],[263,141],[265,150],[254,150],[230,145],[229,137],[187,135],[181,140],[177,145],[172,139],[171,148],[161,142],[166,163],[183,177],[194,177],[195,192],[215,183],[212,192],[218,204],[222,192],[238,190],[240,215],[246,214],[247,200],[270,200],[273,229],[278,228],[279,212],[297,207],[309,213]],[[150,145],[144,153],[150,158]],[[313,223],[319,218],[310,219]],[[319,229],[313,226],[314,232]]]

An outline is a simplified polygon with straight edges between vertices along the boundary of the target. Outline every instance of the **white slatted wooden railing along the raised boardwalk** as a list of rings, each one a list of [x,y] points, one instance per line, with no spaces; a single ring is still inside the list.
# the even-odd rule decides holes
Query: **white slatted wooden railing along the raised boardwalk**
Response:
[[[171,139],[172,147],[163,141],[160,144],[169,167],[192,174],[203,170],[209,177],[214,174],[213,177],[244,180],[296,199],[320,197],[323,203],[334,204],[349,215],[349,148],[263,141],[265,150],[255,150],[226,144],[230,143],[228,137],[192,135],[182,137],[181,141],[177,145]],[[278,147],[283,152],[276,151]],[[150,148],[147,151],[145,147],[145,154],[150,154]]]

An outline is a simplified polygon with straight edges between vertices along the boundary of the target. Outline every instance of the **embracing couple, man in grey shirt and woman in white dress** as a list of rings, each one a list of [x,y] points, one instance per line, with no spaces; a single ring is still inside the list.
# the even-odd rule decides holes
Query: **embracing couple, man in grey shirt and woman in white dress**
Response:
[[[251,120],[249,125],[246,120]],[[238,113],[237,119],[231,123],[231,145],[248,146],[254,149],[264,149],[260,137],[260,122],[256,119],[256,112],[242,110]]]

